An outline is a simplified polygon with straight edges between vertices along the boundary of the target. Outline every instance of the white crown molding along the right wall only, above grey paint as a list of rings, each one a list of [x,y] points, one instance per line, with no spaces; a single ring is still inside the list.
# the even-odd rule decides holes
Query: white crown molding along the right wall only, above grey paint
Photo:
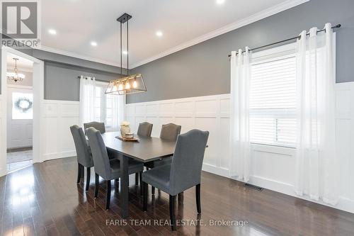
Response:
[[[206,40],[210,40],[211,38],[215,38],[215,37],[217,37],[219,35],[222,35],[224,33],[229,32],[229,31],[236,30],[237,28],[241,28],[242,26],[249,25],[250,23],[259,21],[259,20],[261,20],[263,18],[267,18],[268,16],[272,16],[272,15],[274,15],[276,13],[280,13],[281,11],[285,11],[287,9],[291,9],[292,7],[298,6],[300,4],[304,4],[307,1],[310,1],[310,0],[287,0],[287,1],[283,2],[283,3],[281,3],[281,4],[272,6],[272,7],[268,8],[268,9],[265,9],[263,11],[255,13],[252,16],[248,16],[248,17],[243,18],[243,19],[241,19],[239,21],[236,21],[234,23],[230,23],[227,26],[224,26],[222,28],[214,30],[214,31],[212,31],[210,33],[207,33],[207,34],[202,35],[202,36],[200,36],[198,38],[195,38],[193,40],[185,42],[185,43],[183,43],[181,45],[173,47],[173,48],[171,48],[169,50],[166,50],[164,52],[161,52],[158,55],[154,55],[153,57],[149,57],[146,60],[142,60],[141,62],[137,62],[135,64],[132,64],[131,68],[133,69],[135,67],[139,67],[139,66],[141,66],[143,64],[147,64],[149,62],[157,60],[157,59],[159,59],[161,57],[166,57],[167,55],[170,55],[173,52],[178,52],[178,51],[183,50],[183,49],[185,49],[187,47],[196,45],[198,43],[202,43],[202,42],[204,42]]]

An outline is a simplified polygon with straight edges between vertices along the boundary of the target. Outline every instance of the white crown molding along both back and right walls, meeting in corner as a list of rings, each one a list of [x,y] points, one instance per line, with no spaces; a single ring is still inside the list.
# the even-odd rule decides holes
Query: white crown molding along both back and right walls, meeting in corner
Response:
[[[147,64],[149,62],[157,60],[157,59],[159,59],[161,57],[166,57],[167,55],[170,55],[170,54],[172,54],[174,52],[178,52],[178,51],[183,50],[183,49],[185,49],[187,47],[191,47],[191,46],[196,45],[198,43],[202,43],[202,42],[204,42],[206,40],[210,40],[211,38],[215,38],[215,37],[217,37],[219,35],[222,35],[224,33],[230,32],[232,30],[236,30],[237,28],[241,28],[242,26],[249,25],[250,23],[253,23],[253,22],[256,22],[256,21],[260,21],[263,18],[266,18],[268,16],[272,16],[272,15],[274,15],[276,13],[279,13],[281,11],[285,11],[287,9],[291,9],[292,7],[298,6],[300,4],[304,4],[307,1],[310,1],[310,0],[287,0],[285,2],[282,2],[281,4],[272,6],[272,7],[268,8],[268,9],[265,9],[263,11],[255,13],[252,16],[243,18],[243,19],[241,19],[239,21],[236,21],[234,23],[230,23],[227,26],[224,26],[224,27],[219,28],[217,30],[214,30],[214,31],[212,31],[210,33],[207,33],[205,35],[199,36],[198,38],[195,38],[195,39],[190,40],[188,42],[182,43],[181,45],[178,45],[176,47],[172,47],[169,50],[161,52],[161,53],[159,53],[157,55],[154,55],[152,57],[149,57],[149,58],[147,58],[145,60],[142,60],[140,62],[132,64],[132,66],[130,68],[133,69],[135,67],[141,66],[142,64]],[[79,54],[76,54],[74,52],[68,52],[68,51],[64,51],[64,50],[59,50],[59,49],[54,48],[54,47],[47,47],[47,46],[43,46],[42,45],[39,48],[39,50],[42,50],[42,51],[45,51],[45,52],[53,52],[53,53],[57,53],[57,54],[60,54],[60,55],[65,55],[65,56],[68,56],[68,57],[75,57],[75,58],[78,58],[78,59],[81,59],[81,60],[87,60],[87,61],[91,61],[91,62],[98,62],[98,63],[101,63],[101,64],[108,64],[108,65],[111,65],[113,67],[120,67],[120,64],[118,64],[117,62],[110,62],[110,61],[102,60],[102,59],[95,58],[95,57],[79,55]],[[123,64],[122,67],[123,67],[123,69],[125,69],[126,65]]]

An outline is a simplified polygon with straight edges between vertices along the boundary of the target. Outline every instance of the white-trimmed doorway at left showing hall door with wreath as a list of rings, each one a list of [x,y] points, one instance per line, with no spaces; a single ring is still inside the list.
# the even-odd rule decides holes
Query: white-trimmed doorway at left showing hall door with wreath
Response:
[[[19,74],[24,77],[22,81],[11,79],[11,75],[18,78]],[[44,62],[1,47],[0,176],[43,161],[43,102]]]

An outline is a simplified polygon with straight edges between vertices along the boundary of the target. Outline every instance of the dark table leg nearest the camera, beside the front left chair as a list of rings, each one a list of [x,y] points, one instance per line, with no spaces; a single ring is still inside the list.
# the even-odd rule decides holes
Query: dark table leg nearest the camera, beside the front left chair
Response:
[[[128,176],[128,159],[129,157],[125,157],[125,155],[120,155],[120,170],[122,172],[122,176],[120,178],[120,191],[122,196],[121,202],[122,209],[121,215],[122,218],[127,218],[129,216],[129,176]]]

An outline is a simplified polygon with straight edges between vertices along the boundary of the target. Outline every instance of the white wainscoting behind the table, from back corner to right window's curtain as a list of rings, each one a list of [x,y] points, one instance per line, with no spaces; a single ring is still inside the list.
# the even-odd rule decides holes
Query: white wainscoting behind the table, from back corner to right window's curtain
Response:
[[[228,176],[229,107],[225,108],[228,104],[229,94],[132,103],[126,106],[126,118],[135,132],[139,123],[154,124],[152,136],[155,137],[159,137],[161,125],[166,123],[181,125],[181,133],[193,128],[208,130],[209,147],[205,151],[203,169]]]

